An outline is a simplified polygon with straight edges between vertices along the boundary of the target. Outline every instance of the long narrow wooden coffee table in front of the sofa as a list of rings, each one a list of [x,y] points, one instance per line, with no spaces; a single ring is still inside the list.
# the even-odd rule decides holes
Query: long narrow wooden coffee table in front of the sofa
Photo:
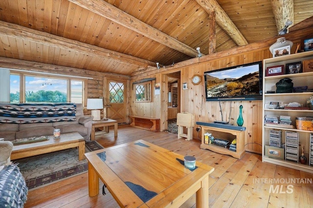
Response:
[[[11,160],[44,154],[52,151],[79,148],[79,160],[83,160],[85,153],[85,139],[78,132],[61,133],[59,139],[48,136],[48,140],[14,145],[11,153]]]

